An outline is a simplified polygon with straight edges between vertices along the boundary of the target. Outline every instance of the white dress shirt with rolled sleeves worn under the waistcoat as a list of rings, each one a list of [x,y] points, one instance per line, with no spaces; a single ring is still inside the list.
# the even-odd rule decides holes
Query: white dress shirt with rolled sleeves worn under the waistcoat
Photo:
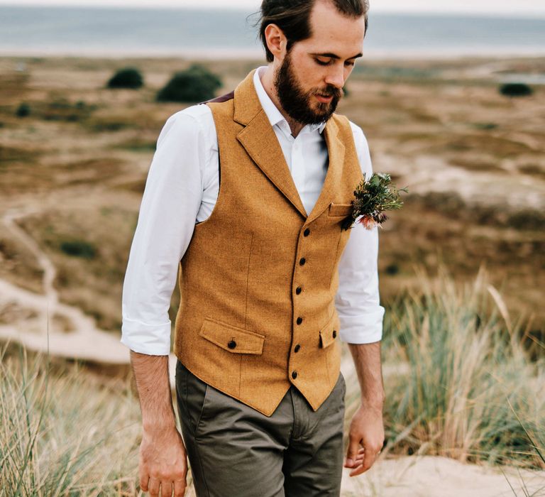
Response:
[[[325,123],[304,126],[294,138],[261,84],[265,69],[255,72],[255,90],[309,213],[327,173],[328,152],[321,134]],[[353,123],[351,127],[361,169],[370,178],[367,140],[360,127]],[[177,268],[195,224],[209,217],[218,192],[218,140],[211,110],[194,105],[172,114],[158,137],[123,282],[121,343],[133,351],[170,353],[168,309]],[[369,231],[356,224],[338,266],[335,305],[343,342],[382,339],[384,307],[379,304],[377,258],[378,229]]]

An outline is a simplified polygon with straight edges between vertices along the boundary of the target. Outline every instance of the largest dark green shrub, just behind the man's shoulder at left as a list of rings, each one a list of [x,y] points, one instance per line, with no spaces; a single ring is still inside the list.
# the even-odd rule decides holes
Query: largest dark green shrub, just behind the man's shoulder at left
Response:
[[[214,98],[221,80],[201,65],[177,72],[157,94],[158,102],[204,102]]]

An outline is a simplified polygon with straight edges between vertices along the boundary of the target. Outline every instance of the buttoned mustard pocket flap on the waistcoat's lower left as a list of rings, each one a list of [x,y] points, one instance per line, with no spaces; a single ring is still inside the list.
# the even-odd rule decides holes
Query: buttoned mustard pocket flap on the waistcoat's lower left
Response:
[[[265,337],[247,329],[205,318],[199,335],[231,354],[262,354]]]

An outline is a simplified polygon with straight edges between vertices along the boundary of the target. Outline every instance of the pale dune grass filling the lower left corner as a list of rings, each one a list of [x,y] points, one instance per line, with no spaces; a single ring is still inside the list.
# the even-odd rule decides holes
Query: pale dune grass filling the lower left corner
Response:
[[[0,496],[133,496],[138,401],[77,365],[0,351]]]

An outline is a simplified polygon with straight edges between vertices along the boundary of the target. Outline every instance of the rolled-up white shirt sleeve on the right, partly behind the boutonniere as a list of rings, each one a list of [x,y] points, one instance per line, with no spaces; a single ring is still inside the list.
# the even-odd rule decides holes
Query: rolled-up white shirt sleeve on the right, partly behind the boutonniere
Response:
[[[359,126],[351,123],[360,166],[365,178],[373,174],[367,139]],[[378,291],[378,227],[365,229],[356,223],[338,265],[335,297],[341,320],[340,338],[351,344],[367,344],[382,339],[382,318]]]

